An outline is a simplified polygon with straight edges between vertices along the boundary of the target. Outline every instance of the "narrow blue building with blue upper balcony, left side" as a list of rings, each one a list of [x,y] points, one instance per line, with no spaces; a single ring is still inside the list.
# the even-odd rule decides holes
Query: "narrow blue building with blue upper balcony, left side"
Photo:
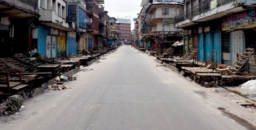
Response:
[[[68,0],[67,23],[74,28],[74,32],[68,32],[67,54],[77,54],[87,49],[86,43],[86,4],[84,0]],[[74,27],[73,27],[74,26]]]

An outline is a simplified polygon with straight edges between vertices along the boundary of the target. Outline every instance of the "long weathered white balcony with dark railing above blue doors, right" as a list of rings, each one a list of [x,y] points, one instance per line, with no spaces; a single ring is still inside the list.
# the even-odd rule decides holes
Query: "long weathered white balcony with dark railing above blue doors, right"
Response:
[[[198,22],[220,18],[232,12],[239,12],[244,10],[241,5],[244,4],[242,2],[239,4],[236,0],[207,0],[176,16],[175,26],[183,28]]]

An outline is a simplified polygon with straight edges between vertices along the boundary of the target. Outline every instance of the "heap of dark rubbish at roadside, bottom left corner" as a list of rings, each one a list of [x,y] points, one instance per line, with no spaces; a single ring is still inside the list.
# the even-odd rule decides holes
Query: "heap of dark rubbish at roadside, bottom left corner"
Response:
[[[25,106],[22,105],[24,99],[21,95],[12,95],[6,101],[0,104],[0,115],[14,114],[22,111]]]

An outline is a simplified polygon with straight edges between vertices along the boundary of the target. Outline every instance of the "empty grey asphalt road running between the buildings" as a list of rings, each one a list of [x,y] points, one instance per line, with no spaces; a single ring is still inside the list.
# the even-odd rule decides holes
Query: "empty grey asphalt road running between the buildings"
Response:
[[[256,116],[122,46],[88,72],[0,116],[0,129],[256,129]]]

